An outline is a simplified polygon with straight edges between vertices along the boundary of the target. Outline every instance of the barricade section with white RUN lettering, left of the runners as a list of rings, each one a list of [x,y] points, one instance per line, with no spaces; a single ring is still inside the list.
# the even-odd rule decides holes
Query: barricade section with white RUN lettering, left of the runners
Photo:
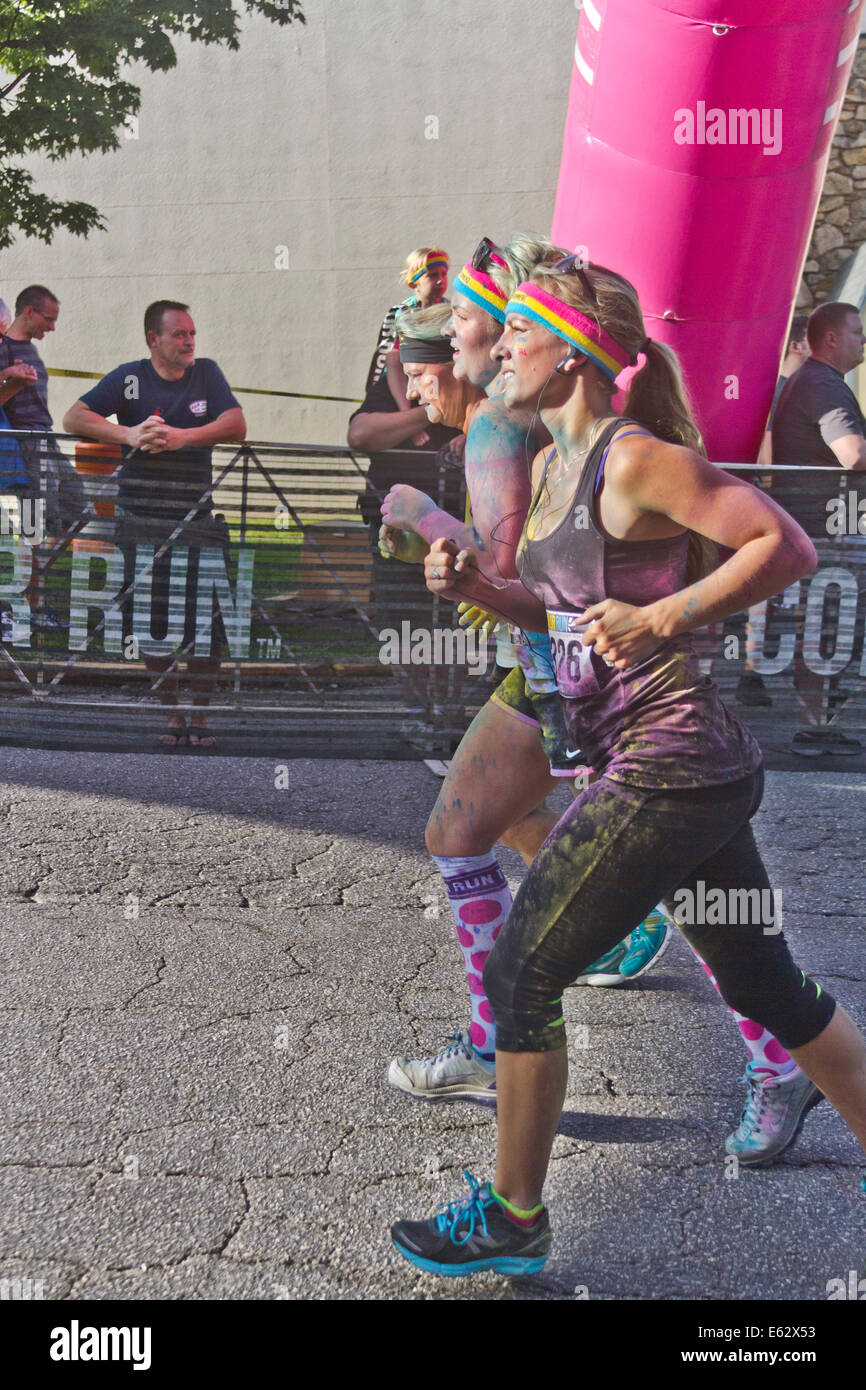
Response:
[[[421,567],[375,549],[359,503],[378,514],[384,493],[367,459],[215,446],[213,488],[156,524],[115,507],[115,446],[14,438],[43,467],[38,498],[0,503],[1,741],[158,749],[160,702],[179,680],[177,709],[190,717],[206,699],[218,751],[439,758],[485,699],[487,642],[467,649]],[[379,474],[392,460],[393,481],[460,513],[455,460],[378,455]],[[86,510],[46,531],[72,461]]]

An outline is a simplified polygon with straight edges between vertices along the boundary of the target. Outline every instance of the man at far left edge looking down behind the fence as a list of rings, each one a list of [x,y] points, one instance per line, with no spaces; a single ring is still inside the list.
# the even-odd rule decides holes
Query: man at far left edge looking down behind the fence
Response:
[[[33,543],[32,578],[28,602],[36,621],[44,628],[65,628],[50,603],[36,612],[38,548],[42,532],[57,537],[65,527],[81,520],[85,510],[85,491],[70,460],[61,453],[51,435],[53,420],[49,410],[49,374],[33,339],[42,341],[54,332],[60,314],[60,300],[44,285],[28,285],[15,300],[15,317],[0,338],[0,406],[13,430],[40,434],[40,439],[21,439],[22,481],[10,486],[18,502],[29,502],[31,509],[42,499],[40,517],[31,516],[26,539]],[[24,477],[26,481],[24,481]],[[22,530],[25,530],[22,527]]]

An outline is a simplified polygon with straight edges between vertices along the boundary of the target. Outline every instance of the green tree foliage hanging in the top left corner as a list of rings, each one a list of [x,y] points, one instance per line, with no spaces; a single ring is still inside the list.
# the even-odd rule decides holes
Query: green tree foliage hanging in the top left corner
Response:
[[[0,0],[0,247],[17,231],[50,242],[58,227],[78,236],[104,228],[89,203],[39,192],[28,154],[118,149],[140,104],[124,70],[174,68],[178,35],[238,49],[242,8],[304,22],[300,0]]]

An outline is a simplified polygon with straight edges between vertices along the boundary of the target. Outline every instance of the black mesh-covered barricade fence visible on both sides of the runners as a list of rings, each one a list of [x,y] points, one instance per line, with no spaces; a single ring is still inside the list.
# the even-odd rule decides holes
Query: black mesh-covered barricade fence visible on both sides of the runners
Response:
[[[111,445],[3,435],[1,742],[158,752],[188,721],[210,724],[214,752],[450,755],[495,687],[496,644],[457,626],[420,563],[382,557],[377,532],[398,481],[463,517],[457,459],[249,443],[214,448],[204,473],[163,455],[138,491],[133,471]],[[728,471],[791,512],[819,566],[701,631],[702,671],[769,766],[858,769],[866,482]]]

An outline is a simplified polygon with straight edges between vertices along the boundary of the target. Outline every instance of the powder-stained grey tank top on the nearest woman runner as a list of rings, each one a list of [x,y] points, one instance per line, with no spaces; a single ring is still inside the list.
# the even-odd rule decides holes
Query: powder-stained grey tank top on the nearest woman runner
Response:
[[[644,606],[685,588],[688,532],[620,541],[602,527],[596,500],[610,442],[623,425],[632,427],[630,434],[649,435],[620,417],[605,425],[563,520],[549,535],[530,539],[542,477],[517,552],[524,585],[548,610],[569,748],[581,748],[596,773],[637,787],[734,781],[760,766],[760,749],[721,703],[712,680],[701,674],[691,634],[663,641],[626,671],[607,666],[581,642],[585,627],[577,614],[591,603],[610,598]]]

